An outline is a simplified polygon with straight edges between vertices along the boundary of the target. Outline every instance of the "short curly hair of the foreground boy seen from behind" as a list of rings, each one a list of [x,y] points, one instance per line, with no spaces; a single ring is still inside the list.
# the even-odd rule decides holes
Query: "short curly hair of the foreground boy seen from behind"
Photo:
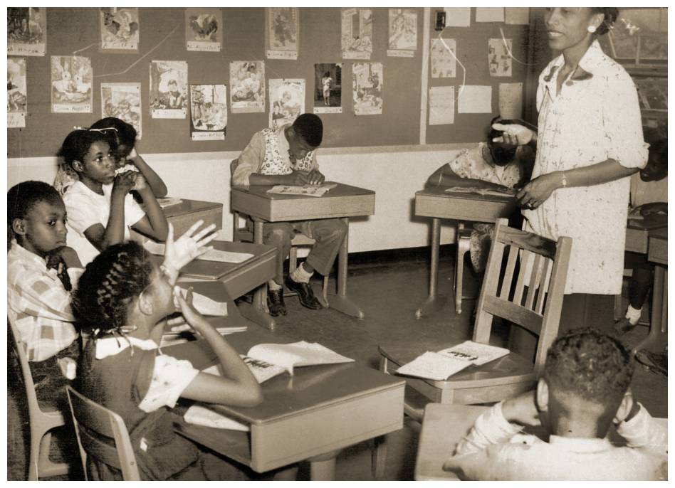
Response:
[[[618,408],[633,376],[634,363],[624,345],[602,331],[572,329],[550,346],[544,377],[551,390]]]

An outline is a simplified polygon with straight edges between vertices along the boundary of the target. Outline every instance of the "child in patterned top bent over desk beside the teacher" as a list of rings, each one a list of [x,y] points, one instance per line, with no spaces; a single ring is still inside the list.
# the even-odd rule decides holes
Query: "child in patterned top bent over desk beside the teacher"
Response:
[[[496,122],[513,123],[511,120],[495,117],[490,126]],[[530,180],[534,152],[527,146],[516,147],[493,141],[501,135],[502,131],[491,127],[486,142],[481,142],[478,147],[472,149],[462,149],[455,159],[436,169],[429,176],[427,187],[475,187],[506,193],[513,193],[514,189],[519,189]],[[493,224],[489,223],[473,224],[470,255],[473,270],[476,272],[485,270],[493,228]]]

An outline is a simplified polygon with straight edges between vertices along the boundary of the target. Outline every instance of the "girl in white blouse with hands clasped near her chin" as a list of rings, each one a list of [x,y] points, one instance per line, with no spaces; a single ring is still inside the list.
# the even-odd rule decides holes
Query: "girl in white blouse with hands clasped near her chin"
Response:
[[[68,226],[74,230],[70,244],[83,264],[108,246],[130,238],[130,228],[156,240],[167,237],[167,219],[157,198],[136,171],[115,175],[117,142],[98,130],[76,129],[63,141],[60,155],[78,174],[63,201]],[[145,211],[130,195],[137,191]]]

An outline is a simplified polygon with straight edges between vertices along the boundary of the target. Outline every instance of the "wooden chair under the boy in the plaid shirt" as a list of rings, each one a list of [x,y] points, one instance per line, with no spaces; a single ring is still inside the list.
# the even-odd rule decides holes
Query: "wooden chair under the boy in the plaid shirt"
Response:
[[[26,356],[26,344],[21,341],[21,334],[16,326],[7,320],[11,335],[14,339],[16,354],[19,356],[23,386],[26,388],[26,403],[28,404],[28,421],[31,428],[31,452],[28,481],[37,481],[41,477],[58,476],[68,474],[69,467],[65,462],[55,463],[49,459],[51,449],[51,430],[66,424],[63,413],[56,405],[40,405],[35,393],[35,383],[31,375],[31,367],[28,366]]]

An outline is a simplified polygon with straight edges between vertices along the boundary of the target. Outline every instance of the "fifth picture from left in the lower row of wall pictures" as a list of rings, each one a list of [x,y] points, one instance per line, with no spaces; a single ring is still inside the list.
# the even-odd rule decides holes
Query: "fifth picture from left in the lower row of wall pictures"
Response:
[[[227,87],[190,85],[190,135],[193,141],[224,141]]]

